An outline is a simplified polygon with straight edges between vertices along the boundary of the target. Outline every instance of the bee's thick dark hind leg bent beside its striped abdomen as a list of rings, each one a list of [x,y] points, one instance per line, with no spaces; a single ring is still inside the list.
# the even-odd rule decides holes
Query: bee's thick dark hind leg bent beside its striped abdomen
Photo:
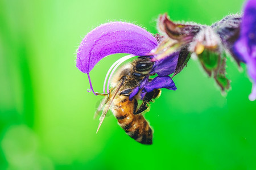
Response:
[[[146,109],[149,106],[150,101],[152,101],[152,99],[155,99],[156,97],[158,97],[159,94],[160,94],[159,89],[155,89],[154,91],[148,92],[143,97],[143,101],[142,101],[142,104],[139,107],[139,109],[136,112],[134,112],[133,114],[139,114],[139,113],[142,113],[142,112],[146,111]],[[138,105],[138,103],[137,103],[137,105]]]

